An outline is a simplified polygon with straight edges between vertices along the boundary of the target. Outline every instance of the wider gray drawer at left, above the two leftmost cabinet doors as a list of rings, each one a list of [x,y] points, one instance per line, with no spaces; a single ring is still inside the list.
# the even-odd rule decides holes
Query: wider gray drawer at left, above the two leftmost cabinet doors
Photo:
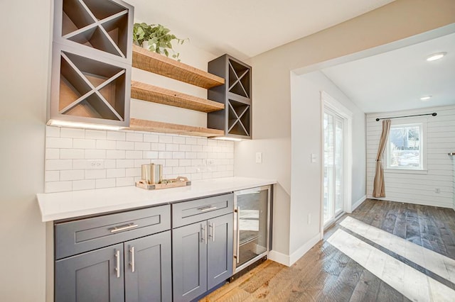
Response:
[[[156,206],[55,224],[55,259],[171,228],[171,206]]]

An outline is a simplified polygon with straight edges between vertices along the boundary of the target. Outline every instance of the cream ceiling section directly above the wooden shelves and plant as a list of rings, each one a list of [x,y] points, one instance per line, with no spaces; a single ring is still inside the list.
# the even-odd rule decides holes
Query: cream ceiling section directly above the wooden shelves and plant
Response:
[[[213,53],[245,60],[393,0],[127,0],[136,22],[161,23]]]

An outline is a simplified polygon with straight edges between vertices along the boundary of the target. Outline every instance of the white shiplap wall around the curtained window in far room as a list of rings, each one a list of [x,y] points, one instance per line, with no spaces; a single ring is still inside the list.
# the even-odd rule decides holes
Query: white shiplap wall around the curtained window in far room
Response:
[[[454,207],[454,171],[449,152],[455,150],[455,106],[425,108],[413,111],[368,113],[367,118],[367,195],[372,197],[375,159],[382,122],[375,118],[407,116],[437,112],[437,116],[392,119],[395,123],[427,121],[427,172],[400,173],[385,170],[386,197],[389,201],[417,203],[429,206]],[[440,193],[436,193],[440,189]]]

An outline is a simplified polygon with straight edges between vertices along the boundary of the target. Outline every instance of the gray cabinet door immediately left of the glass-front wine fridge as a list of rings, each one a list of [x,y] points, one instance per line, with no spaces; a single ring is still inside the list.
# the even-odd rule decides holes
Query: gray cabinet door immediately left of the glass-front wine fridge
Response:
[[[207,285],[208,289],[232,276],[233,214],[208,220]]]

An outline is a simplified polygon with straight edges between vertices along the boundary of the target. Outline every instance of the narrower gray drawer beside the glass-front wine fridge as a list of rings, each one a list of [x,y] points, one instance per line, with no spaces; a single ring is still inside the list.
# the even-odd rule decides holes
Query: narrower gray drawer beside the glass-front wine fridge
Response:
[[[172,227],[196,223],[234,211],[234,194],[172,204]]]

